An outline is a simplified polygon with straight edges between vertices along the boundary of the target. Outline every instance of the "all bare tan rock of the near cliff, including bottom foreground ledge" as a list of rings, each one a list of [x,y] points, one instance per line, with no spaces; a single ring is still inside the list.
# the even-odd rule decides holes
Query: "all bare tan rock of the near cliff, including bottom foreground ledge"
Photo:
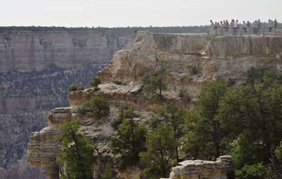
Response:
[[[246,70],[254,65],[263,65],[280,72],[282,62],[277,56],[282,53],[281,44],[282,37],[274,36],[218,36],[211,39],[211,36],[204,34],[153,34],[138,31],[132,49],[116,52],[109,65],[97,74],[103,79],[99,91],[87,89],[69,93],[70,107],[52,110],[48,117],[49,126],[31,134],[27,161],[41,165],[47,178],[58,178],[60,168],[55,163],[55,157],[58,153],[59,141],[54,140],[53,136],[61,132],[59,125],[77,119],[82,124],[81,129],[84,130],[85,135],[97,146],[95,152],[97,162],[93,164],[95,169],[93,176],[99,178],[106,163],[112,166],[117,164],[117,159],[111,154],[109,140],[115,132],[110,123],[116,116],[118,106],[122,104],[135,106],[138,113],[142,114],[142,118],[138,120],[148,124],[148,120],[155,115],[154,111],[166,103],[173,102],[186,108],[192,107],[199,91],[215,78],[240,83],[246,79]],[[145,78],[154,72],[159,59],[168,60],[169,66],[169,87],[165,91],[165,100],[162,102],[151,101],[142,92]],[[191,65],[200,69],[197,74],[189,72],[187,66]],[[124,84],[116,85],[113,80]],[[180,101],[177,97],[180,90],[187,91],[192,101],[187,103]],[[93,94],[104,96],[110,101],[109,116],[99,121],[78,114],[78,108]],[[201,171],[206,170],[205,162],[195,163],[197,162],[201,165],[190,166],[189,162],[182,163],[187,176],[190,177],[188,172],[190,169],[186,171],[185,167],[199,167]],[[208,166],[210,168],[203,177],[224,178],[228,167],[218,169],[215,166],[220,168],[221,163],[223,166],[228,166],[224,164],[225,162],[224,157],[219,158],[217,162],[206,162],[210,164]],[[177,167],[172,170],[176,173]],[[216,172],[209,173],[213,170]],[[115,169],[115,171],[117,178],[123,176],[139,178],[141,175],[140,169],[136,167],[124,171]],[[176,176],[173,174],[171,177],[174,178],[174,175]]]

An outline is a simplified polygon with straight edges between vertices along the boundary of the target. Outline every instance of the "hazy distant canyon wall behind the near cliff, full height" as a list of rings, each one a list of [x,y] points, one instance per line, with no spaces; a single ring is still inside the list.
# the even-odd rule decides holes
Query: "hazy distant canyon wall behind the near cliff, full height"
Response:
[[[26,162],[30,133],[47,126],[52,108],[68,105],[68,85],[89,86],[133,41],[134,31],[0,32],[0,178],[45,178]]]

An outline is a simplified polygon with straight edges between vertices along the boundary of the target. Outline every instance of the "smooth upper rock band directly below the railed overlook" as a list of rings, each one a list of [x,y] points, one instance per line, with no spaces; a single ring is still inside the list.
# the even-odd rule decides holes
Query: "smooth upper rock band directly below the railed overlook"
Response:
[[[217,59],[276,56],[282,52],[280,36],[218,36],[210,40],[206,54]]]

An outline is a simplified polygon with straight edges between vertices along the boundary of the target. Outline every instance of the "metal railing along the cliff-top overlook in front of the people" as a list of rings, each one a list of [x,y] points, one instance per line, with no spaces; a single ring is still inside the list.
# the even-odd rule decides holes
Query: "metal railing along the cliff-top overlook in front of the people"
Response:
[[[253,26],[250,28],[239,25],[239,28],[232,28],[231,26],[220,26],[219,29],[210,27],[208,29],[208,35],[262,35],[262,36],[282,36],[282,26],[271,29],[268,26],[261,26],[254,29]]]

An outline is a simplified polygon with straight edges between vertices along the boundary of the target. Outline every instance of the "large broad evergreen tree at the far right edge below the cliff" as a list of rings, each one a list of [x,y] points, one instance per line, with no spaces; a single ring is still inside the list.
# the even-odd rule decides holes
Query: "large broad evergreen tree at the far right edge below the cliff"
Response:
[[[265,72],[261,77],[256,70],[259,69],[248,71],[245,85],[226,94],[220,113],[226,119],[238,121],[237,131],[244,131],[246,143],[255,149],[249,152],[251,165],[262,161],[263,165],[271,165],[278,177],[281,165],[275,148],[282,139],[282,85],[278,75]]]

